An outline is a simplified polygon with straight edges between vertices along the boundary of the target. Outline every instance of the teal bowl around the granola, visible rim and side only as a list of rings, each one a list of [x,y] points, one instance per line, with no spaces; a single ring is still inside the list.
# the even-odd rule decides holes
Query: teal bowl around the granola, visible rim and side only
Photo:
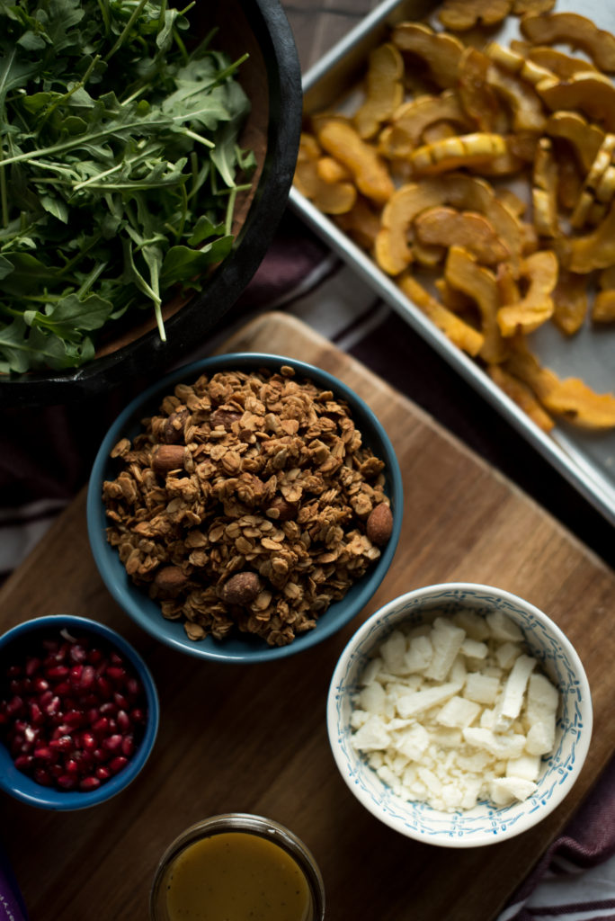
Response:
[[[169,391],[169,388],[172,388],[175,384],[191,378],[196,379],[199,374],[207,370],[218,370],[222,368],[241,370],[245,367],[259,367],[259,365],[261,365],[261,367],[281,367],[283,365],[288,365],[295,368],[296,372],[302,376],[313,379],[319,386],[326,386],[333,391],[336,397],[342,398],[348,402],[355,419],[357,414],[365,419],[365,424],[360,427],[362,434],[366,437],[366,441],[377,441],[386,454],[383,460],[387,465],[386,473],[389,482],[388,495],[393,507],[393,530],[389,542],[378,558],[374,568],[370,569],[362,579],[354,583],[351,591],[354,591],[355,594],[352,602],[348,603],[348,610],[346,612],[340,613],[341,609],[338,609],[337,612],[334,610],[338,605],[344,605],[346,603],[344,599],[336,601],[331,605],[331,608],[319,618],[316,627],[304,634],[296,636],[295,640],[287,646],[268,647],[263,645],[261,647],[260,643],[255,643],[254,649],[250,648],[249,650],[240,650],[231,653],[229,651],[230,647],[225,646],[223,642],[213,646],[215,641],[212,640],[211,637],[206,637],[198,642],[190,642],[185,635],[181,636],[178,640],[174,640],[160,634],[158,630],[160,622],[158,620],[152,621],[152,619],[141,610],[137,601],[133,600],[133,593],[136,592],[136,589],[132,584],[126,584],[125,572],[123,572],[122,565],[118,565],[119,560],[117,554],[110,548],[110,545],[106,541],[106,517],[100,497],[100,490],[104,472],[109,465],[110,449],[112,449],[120,437],[122,437],[122,433],[130,429],[131,422],[134,424],[137,414],[140,414],[140,417],[143,418],[145,413],[142,407],[151,404],[157,397],[165,395],[166,392]],[[367,436],[366,426],[368,426],[370,434],[373,433],[373,437]],[[235,352],[201,358],[189,365],[176,368],[164,379],[157,381],[156,384],[151,385],[142,394],[128,403],[122,410],[122,413],[118,415],[110,426],[100,444],[87,486],[86,508],[87,535],[95,564],[97,565],[99,575],[107,590],[110,591],[111,596],[120,605],[122,611],[126,612],[135,623],[139,624],[146,633],[153,636],[158,642],[176,649],[183,654],[188,654],[197,659],[207,661],[251,664],[285,659],[318,645],[329,636],[341,630],[345,624],[353,620],[353,618],[366,606],[367,602],[376,592],[389,571],[389,566],[397,550],[403,519],[403,484],[400,464],[389,435],[374,411],[348,386],[348,384],[336,378],[331,372],[310,365],[300,359],[265,352]],[[114,570],[115,574],[122,578],[122,583],[118,581],[118,578],[111,577],[110,569]],[[327,620],[327,615],[331,612],[334,616],[331,616],[331,618]],[[242,642],[247,641],[249,641],[249,638],[244,639],[242,637]]]

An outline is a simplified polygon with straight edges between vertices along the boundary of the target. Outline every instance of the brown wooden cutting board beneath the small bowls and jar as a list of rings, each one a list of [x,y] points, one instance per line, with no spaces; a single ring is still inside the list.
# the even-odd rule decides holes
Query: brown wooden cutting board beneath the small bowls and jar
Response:
[[[105,805],[52,813],[0,799],[3,843],[32,921],[145,919],[165,847],[225,811],[268,816],[306,842],[325,880],[328,918],[487,921],[613,752],[615,575],[412,402],[299,321],[267,314],[224,350],[301,358],[372,406],[403,473],[399,549],[366,610],[324,645],[273,665],[223,667],[162,647],[122,613],[88,550],[85,495],[75,499],[0,593],[0,627],[71,612],[117,628],[151,666],[161,722],[142,775]],[[363,810],[338,775],[325,728],[331,672],[359,622],[404,591],[457,579],[500,586],[548,612],[585,663],[595,707],[590,752],[568,799],[538,828],[466,852],[412,842]]]

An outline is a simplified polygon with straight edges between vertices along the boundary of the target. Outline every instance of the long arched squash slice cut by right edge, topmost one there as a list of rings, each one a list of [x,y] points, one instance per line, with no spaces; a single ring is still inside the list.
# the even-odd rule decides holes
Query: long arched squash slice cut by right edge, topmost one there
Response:
[[[526,16],[522,34],[535,45],[568,44],[580,48],[599,70],[615,74],[615,36],[578,13]]]

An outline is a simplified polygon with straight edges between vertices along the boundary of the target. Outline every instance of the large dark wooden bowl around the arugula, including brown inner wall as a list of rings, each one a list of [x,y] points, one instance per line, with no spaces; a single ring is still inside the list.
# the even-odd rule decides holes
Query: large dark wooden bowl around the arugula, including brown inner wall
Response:
[[[41,371],[0,379],[0,409],[73,403],[122,382],[163,373],[203,343],[205,334],[233,307],[256,272],[284,213],[299,144],[301,68],[293,33],[279,0],[207,0],[195,6],[203,34],[219,27],[218,45],[235,59],[251,112],[243,145],[255,151],[253,195],[239,204],[233,251],[203,290],[166,311],[167,342],[151,322],[128,331],[122,344],[107,344],[97,358],[70,371]],[[245,219],[244,219],[245,218]],[[173,312],[175,310],[175,312]]]

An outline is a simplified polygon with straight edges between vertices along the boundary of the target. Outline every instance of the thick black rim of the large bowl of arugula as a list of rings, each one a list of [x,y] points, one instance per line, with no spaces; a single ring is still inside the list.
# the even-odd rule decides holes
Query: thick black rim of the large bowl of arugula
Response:
[[[284,214],[293,181],[303,92],[294,35],[279,0],[241,0],[241,4],[253,7],[246,17],[267,71],[270,117],[261,178],[233,251],[203,291],[166,321],[166,343],[160,342],[154,329],[83,367],[0,376],[0,409],[71,403],[125,380],[164,373],[225,316],[256,273]]]

